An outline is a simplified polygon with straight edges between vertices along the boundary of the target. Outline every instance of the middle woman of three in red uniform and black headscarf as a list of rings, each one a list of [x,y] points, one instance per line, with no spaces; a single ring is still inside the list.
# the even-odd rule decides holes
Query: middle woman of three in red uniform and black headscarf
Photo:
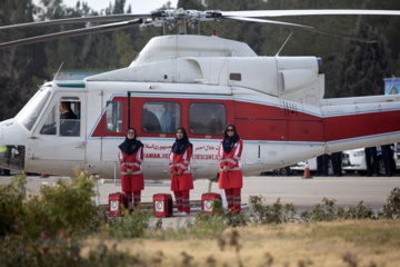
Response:
[[[190,172],[190,158],[193,146],[189,141],[183,127],[177,129],[176,142],[170,152],[171,190],[176,197],[181,216],[190,214],[189,190],[193,189],[193,178]]]

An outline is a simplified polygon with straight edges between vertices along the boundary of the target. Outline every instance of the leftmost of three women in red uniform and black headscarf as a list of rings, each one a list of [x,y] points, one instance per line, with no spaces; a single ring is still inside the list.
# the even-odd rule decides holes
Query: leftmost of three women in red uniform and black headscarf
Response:
[[[119,149],[122,191],[128,195],[128,202],[133,202],[133,206],[137,207],[140,204],[141,190],[144,189],[141,166],[143,162],[143,144],[137,140],[133,128],[128,129],[126,140],[119,146]]]

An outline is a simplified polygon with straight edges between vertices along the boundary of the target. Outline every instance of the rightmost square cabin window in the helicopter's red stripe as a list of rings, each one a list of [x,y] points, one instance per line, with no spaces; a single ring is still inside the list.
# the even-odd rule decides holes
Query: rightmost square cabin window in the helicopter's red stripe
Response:
[[[189,106],[189,131],[193,135],[222,135],[227,107],[219,102],[192,102]]]

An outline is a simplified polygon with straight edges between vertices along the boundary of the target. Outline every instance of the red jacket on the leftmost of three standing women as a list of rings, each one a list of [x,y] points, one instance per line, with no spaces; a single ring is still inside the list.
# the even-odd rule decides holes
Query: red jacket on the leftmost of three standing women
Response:
[[[144,179],[142,171],[142,162],[143,162],[143,147],[139,148],[132,155],[127,155],[119,151],[118,158],[120,160],[121,166],[121,179],[130,177],[132,178],[131,185],[133,190],[143,190],[144,189]],[[133,175],[127,175],[127,169],[130,168],[133,170]]]

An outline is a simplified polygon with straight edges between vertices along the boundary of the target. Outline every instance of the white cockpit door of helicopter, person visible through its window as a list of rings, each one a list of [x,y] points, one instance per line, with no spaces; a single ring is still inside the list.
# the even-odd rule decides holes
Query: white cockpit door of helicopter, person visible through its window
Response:
[[[30,138],[30,158],[81,164],[86,158],[84,105],[83,92],[56,93]]]

